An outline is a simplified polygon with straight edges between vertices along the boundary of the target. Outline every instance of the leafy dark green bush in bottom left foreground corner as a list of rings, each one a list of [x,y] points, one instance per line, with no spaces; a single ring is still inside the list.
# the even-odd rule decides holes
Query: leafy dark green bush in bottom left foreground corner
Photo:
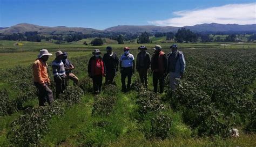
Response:
[[[25,115],[21,115],[11,123],[8,138],[13,145],[36,146],[42,136],[48,130],[48,122],[52,115],[62,115],[63,108],[58,102],[45,107],[27,109]]]

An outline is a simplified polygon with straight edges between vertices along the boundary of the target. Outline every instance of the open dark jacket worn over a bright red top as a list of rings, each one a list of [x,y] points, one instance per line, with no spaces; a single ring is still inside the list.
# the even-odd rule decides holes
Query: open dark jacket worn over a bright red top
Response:
[[[105,64],[103,62],[103,58],[99,56],[99,60],[100,60],[100,75],[104,75],[106,73],[106,67]],[[96,76],[96,57],[92,56],[89,60],[88,63],[88,75],[89,76]]]

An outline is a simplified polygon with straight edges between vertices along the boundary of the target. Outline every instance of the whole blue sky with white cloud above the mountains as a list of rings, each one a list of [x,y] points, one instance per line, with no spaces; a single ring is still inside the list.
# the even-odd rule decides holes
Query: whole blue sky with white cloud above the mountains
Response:
[[[256,0],[0,0],[0,27],[30,23],[103,30],[116,25],[184,26],[211,21],[255,24],[255,11]]]

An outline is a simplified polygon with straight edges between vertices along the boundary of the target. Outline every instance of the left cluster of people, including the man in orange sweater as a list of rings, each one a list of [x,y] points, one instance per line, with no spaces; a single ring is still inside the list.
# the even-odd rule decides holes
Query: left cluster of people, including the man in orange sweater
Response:
[[[71,61],[68,60],[68,53],[58,51],[55,53],[56,58],[52,61],[52,73],[54,76],[54,81],[56,85],[56,98],[59,94],[66,89],[68,85],[68,80],[73,80],[74,84],[78,83],[78,78],[72,73],[74,69]],[[44,106],[46,102],[51,104],[53,101],[53,93],[50,86],[50,78],[48,76],[48,61],[49,56],[52,54],[48,52],[47,49],[40,50],[36,61],[33,63],[33,82],[37,87],[39,93],[39,106]]]

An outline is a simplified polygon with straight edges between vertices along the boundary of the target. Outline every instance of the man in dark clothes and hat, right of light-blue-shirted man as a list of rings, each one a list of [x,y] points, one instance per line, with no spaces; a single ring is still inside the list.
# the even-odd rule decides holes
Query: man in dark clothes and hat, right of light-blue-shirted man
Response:
[[[141,82],[147,87],[147,70],[150,68],[150,54],[146,52],[147,48],[145,46],[140,46],[140,50],[137,55],[136,69],[139,72],[139,78]]]

